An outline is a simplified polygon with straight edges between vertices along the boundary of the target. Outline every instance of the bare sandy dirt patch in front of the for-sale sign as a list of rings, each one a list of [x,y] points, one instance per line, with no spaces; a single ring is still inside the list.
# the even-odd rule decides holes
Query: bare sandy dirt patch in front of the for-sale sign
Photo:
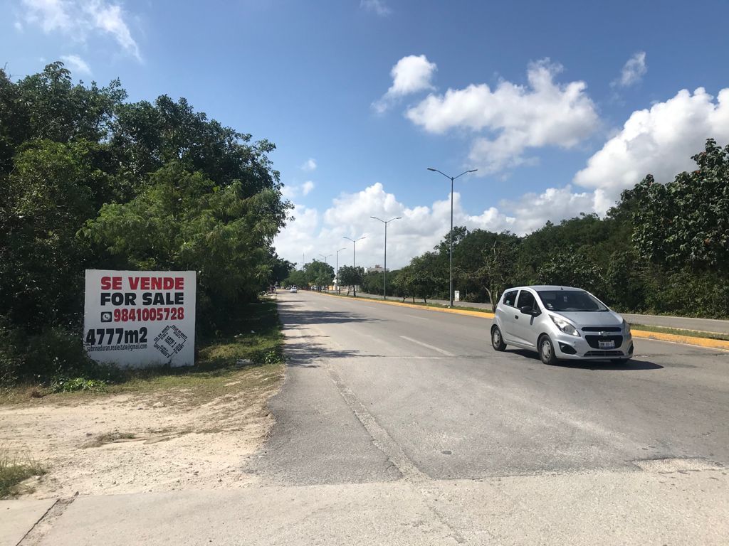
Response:
[[[0,405],[0,446],[46,468],[26,483],[35,498],[249,486],[241,468],[273,425],[266,401],[280,378],[247,379],[208,397],[177,388]]]

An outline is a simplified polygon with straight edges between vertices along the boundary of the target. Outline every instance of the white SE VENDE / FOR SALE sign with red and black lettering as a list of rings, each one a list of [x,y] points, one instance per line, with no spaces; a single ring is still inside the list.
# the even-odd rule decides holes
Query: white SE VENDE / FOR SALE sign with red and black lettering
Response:
[[[194,271],[86,270],[84,347],[122,368],[195,364]]]

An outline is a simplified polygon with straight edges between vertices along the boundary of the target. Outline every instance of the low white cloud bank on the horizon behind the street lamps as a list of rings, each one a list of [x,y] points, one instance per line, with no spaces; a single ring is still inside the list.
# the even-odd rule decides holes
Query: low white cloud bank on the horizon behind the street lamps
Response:
[[[569,186],[547,189],[542,194],[526,194],[515,202],[502,202],[500,206],[512,214],[489,207],[477,215],[469,215],[461,205],[461,194],[453,194],[453,223],[469,229],[488,229],[500,232],[508,229],[526,233],[544,225],[547,220],[560,221],[582,210],[592,212],[592,194],[572,194]],[[351,264],[351,242],[343,237],[366,238],[357,242],[357,264],[372,266],[383,263],[384,234],[381,223],[370,218],[402,216],[390,224],[387,232],[388,266],[397,268],[408,264],[410,258],[432,250],[448,233],[451,222],[450,195],[430,206],[407,206],[394,194],[375,183],[353,194],[341,194],[320,215],[316,210],[296,205],[295,221],[289,223],[276,238],[276,251],[280,256],[300,262],[307,253],[307,261],[319,253],[340,253],[340,264]],[[331,263],[331,262],[330,262]]]

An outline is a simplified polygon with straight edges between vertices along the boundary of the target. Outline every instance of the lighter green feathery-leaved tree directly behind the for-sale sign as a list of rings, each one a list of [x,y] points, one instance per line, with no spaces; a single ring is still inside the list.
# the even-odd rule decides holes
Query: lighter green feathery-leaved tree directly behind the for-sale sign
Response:
[[[221,188],[171,163],[139,197],[101,207],[82,233],[117,265],[197,270],[200,323],[214,326],[267,285],[269,248],[288,210],[276,190],[246,194],[240,182]]]

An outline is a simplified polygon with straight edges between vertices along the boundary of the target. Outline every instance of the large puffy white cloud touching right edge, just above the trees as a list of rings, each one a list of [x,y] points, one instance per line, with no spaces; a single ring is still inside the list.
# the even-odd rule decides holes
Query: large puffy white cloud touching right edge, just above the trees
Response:
[[[729,141],[729,88],[721,90],[717,100],[703,87],[693,94],[681,90],[650,110],[634,111],[623,129],[588,159],[574,183],[596,189],[601,202],[597,210],[603,213],[620,191],[649,173],[666,183],[690,170],[690,157],[703,149],[706,138]]]

